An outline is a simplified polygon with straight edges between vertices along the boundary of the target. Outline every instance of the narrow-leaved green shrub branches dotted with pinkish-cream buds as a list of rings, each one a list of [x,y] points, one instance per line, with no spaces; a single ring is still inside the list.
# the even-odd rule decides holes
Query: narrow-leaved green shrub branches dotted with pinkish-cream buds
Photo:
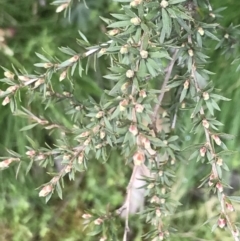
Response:
[[[220,27],[215,22],[220,10],[212,10],[208,1],[135,0],[130,6],[129,1],[118,2],[123,3],[123,9],[112,14],[115,20],[102,18],[111,29],[109,41],[90,46],[79,32],[77,43],[82,51],[61,47],[60,51],[69,55],[64,61],[37,53],[40,62],[35,66],[46,71],[40,69],[28,74],[25,69],[14,68],[13,73],[4,68],[5,78],[1,81],[10,87],[1,92],[3,105],[9,104],[12,112],[31,122],[22,131],[41,126],[49,131],[53,143],[39,147],[38,141],[27,137],[26,154],[9,150],[11,156],[2,158],[1,167],[7,168],[11,163],[20,167],[29,160],[29,171],[33,163],[46,167],[57,165],[60,160],[61,170],[55,173],[50,169],[49,175],[53,178],[39,192],[39,196],[48,201],[54,191],[62,198],[65,175],[75,179],[75,172],[85,171],[90,160],[105,163],[110,161],[111,152],[120,151],[125,162],[133,164],[126,201],[117,212],[107,208],[105,212],[96,209],[98,211],[84,214],[87,224],[93,228],[91,234],[99,235],[100,240],[105,237],[118,240],[118,216],[122,214],[125,216],[124,240],[127,240],[131,195],[140,175],[142,188],[147,190],[146,207],[141,216],[153,226],[146,228],[145,238],[162,240],[174,233],[168,216],[175,213],[179,204],[171,193],[177,179],[175,171],[185,165],[185,158],[190,156],[189,160],[201,161],[200,166],[207,167],[209,173],[201,185],[216,193],[219,199],[220,211],[208,222],[218,219],[212,229],[228,227],[238,240],[238,229],[229,213],[234,209],[232,201],[239,199],[223,192],[223,187],[228,185],[223,181],[222,172],[228,170],[225,158],[231,154],[223,141],[231,136],[219,132],[222,123],[214,117],[216,110],[220,110],[218,101],[228,99],[214,89],[210,80],[212,72],[205,68],[206,47],[212,44],[209,39],[218,41],[216,48],[237,62],[234,53],[229,53],[233,44],[238,46],[238,29]],[[55,3],[60,3],[57,12],[67,12],[71,6],[68,1]],[[79,97],[77,79],[89,67],[96,69],[102,56],[110,60],[111,67],[104,75],[109,83],[103,86],[110,89],[105,90],[100,99],[89,96],[84,100]],[[39,101],[45,109],[44,117],[33,114],[37,111],[30,109]],[[27,108],[22,106],[25,102]],[[64,109],[61,118],[51,114],[56,107]],[[187,132],[183,116],[186,114],[191,118],[192,133],[198,133],[201,139],[199,144],[185,149],[187,154],[180,151],[185,147]]]

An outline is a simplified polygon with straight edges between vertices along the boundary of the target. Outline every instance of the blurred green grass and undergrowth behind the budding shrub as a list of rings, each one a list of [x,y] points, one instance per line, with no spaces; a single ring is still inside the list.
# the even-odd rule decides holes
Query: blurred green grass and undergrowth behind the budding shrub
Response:
[[[119,9],[111,0],[88,0],[89,9],[82,2],[76,1],[69,22],[63,14],[55,14],[55,7],[50,3],[50,0],[0,0],[1,66],[9,69],[12,64],[17,68],[24,66],[29,73],[33,73],[36,69],[33,64],[39,62],[35,52],[43,51],[63,60],[66,56],[58,47],[69,46],[80,51],[76,44],[78,30],[81,30],[93,45],[101,43],[106,40],[106,29],[99,16],[109,17],[111,12]],[[227,7],[222,13],[224,17],[219,19],[223,26],[240,24],[239,1],[211,0],[211,3],[214,8]],[[232,99],[231,102],[221,102],[222,111],[218,113],[218,119],[225,123],[223,132],[235,136],[234,140],[227,142],[230,149],[237,151],[228,160],[230,167],[235,170],[228,178],[233,183],[239,183],[236,176],[240,150],[239,73],[236,72],[236,66],[231,65],[232,60],[222,56],[220,51],[209,49],[209,55],[211,62],[208,69],[216,73],[212,77],[214,84],[223,90],[226,97]],[[107,62],[101,61],[97,65],[97,72],[90,69],[89,75],[78,78],[79,96],[100,96],[101,88],[105,86],[101,76],[106,68]],[[3,76],[1,69],[0,76]],[[0,83],[0,89],[4,88]],[[34,108],[40,113],[44,111],[41,105]],[[66,119],[57,107],[50,110],[55,117]],[[186,123],[190,129],[191,123],[188,119]],[[25,153],[24,147],[28,143],[25,134],[19,130],[26,124],[27,120],[12,116],[9,107],[0,106],[0,156],[6,155],[6,147]],[[54,138],[37,128],[28,132],[28,135],[37,139],[39,145],[51,142],[51,138]],[[192,138],[190,134],[186,134],[186,146],[190,145]],[[46,170],[34,166],[31,172],[25,175],[26,163],[21,167],[17,179],[14,168],[0,172],[0,241],[98,240],[96,237],[87,236],[86,231],[83,232],[81,215],[85,209],[93,207],[103,209],[108,204],[113,210],[120,207],[130,170],[123,168],[122,159],[117,153],[113,153],[110,161],[104,165],[95,165],[94,162],[89,162],[88,171],[79,174],[75,182],[66,183],[63,200],[54,197],[48,204],[38,197],[38,191],[35,190],[49,180]],[[224,231],[212,234],[210,226],[201,226],[214,214],[217,202],[214,197],[209,197],[208,193],[197,189],[199,179],[204,176],[204,170],[200,168],[199,164],[187,161],[178,168],[180,178],[174,186],[174,195],[183,205],[172,220],[172,225],[178,229],[172,240],[231,240]],[[233,181],[233,177],[237,181]],[[240,212],[240,207],[237,209]],[[140,241],[143,224],[137,217],[132,219],[132,240]],[[120,228],[120,236],[122,231]]]

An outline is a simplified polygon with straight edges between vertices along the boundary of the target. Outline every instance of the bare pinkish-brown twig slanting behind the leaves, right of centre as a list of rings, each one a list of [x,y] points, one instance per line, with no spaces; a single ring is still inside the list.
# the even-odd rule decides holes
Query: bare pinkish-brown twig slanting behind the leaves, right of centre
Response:
[[[154,107],[154,112],[153,112],[153,116],[152,116],[152,126],[153,126],[154,129],[156,129],[157,115],[158,115],[158,112],[159,112],[159,108],[162,104],[162,100],[163,100],[163,97],[164,97],[164,94],[165,94],[165,89],[166,89],[167,83],[168,83],[168,81],[171,77],[171,74],[172,74],[172,70],[173,70],[174,63],[176,61],[177,53],[178,53],[178,49],[175,50],[175,52],[173,54],[173,57],[172,57],[172,60],[167,67],[167,73],[165,75],[165,78],[164,78],[164,81],[163,81],[163,84],[162,84],[161,93],[158,96],[158,103]]]

